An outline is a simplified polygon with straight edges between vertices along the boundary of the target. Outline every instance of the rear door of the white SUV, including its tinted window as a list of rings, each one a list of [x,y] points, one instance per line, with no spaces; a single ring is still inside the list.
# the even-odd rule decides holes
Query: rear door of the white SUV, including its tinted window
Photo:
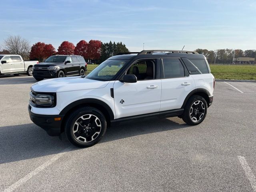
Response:
[[[162,96],[160,111],[180,109],[195,88],[194,79],[179,58],[161,59]]]

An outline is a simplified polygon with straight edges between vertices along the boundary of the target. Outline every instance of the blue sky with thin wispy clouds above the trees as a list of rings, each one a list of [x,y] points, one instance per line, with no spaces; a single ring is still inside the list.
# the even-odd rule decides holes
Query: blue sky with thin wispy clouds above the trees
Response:
[[[256,49],[256,0],[2,0],[0,42],[122,41],[130,51]],[[3,48],[3,46],[2,46]]]

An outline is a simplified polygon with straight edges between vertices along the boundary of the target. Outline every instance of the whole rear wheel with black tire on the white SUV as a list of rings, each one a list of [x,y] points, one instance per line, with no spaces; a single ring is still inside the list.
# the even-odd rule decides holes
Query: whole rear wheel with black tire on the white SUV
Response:
[[[199,95],[191,96],[184,108],[182,120],[189,125],[198,125],[203,122],[207,114],[207,102]]]

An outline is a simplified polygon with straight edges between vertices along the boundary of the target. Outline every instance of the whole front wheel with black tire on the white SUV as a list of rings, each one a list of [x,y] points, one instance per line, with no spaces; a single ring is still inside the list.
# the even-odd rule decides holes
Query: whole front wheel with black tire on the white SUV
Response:
[[[78,108],[68,116],[65,133],[75,146],[84,148],[98,143],[107,129],[105,116],[93,107]]]

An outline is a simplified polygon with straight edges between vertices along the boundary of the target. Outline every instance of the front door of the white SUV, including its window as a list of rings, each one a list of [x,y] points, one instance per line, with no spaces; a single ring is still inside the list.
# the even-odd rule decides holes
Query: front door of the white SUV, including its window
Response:
[[[161,80],[155,66],[155,60],[139,61],[127,71],[137,77],[136,83],[114,82],[116,118],[159,112]]]

